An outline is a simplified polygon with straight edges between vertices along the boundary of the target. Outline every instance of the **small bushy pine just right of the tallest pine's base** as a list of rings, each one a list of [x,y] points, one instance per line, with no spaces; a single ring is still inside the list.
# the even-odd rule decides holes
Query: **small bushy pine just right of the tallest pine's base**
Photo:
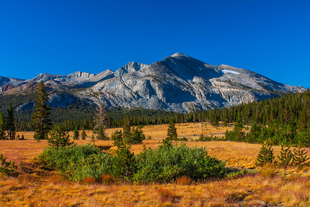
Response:
[[[70,146],[73,143],[70,142],[70,136],[68,132],[65,132],[63,128],[59,125],[54,126],[52,130],[48,133],[48,145],[54,147]]]

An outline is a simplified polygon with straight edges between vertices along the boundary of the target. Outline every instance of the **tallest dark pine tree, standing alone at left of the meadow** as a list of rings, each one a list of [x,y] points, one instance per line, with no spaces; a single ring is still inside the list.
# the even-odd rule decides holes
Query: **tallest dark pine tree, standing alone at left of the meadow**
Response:
[[[50,106],[46,105],[48,102],[48,93],[45,92],[44,83],[39,83],[36,104],[34,113],[32,114],[32,124],[34,126],[34,139],[39,141],[40,139],[46,139],[48,137],[48,131],[52,126],[50,120]]]

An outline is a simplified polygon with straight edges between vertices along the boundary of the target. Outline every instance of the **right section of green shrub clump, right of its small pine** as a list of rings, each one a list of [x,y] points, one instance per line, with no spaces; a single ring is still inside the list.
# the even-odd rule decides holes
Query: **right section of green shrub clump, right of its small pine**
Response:
[[[185,144],[144,149],[136,156],[136,164],[133,180],[143,183],[173,181],[181,176],[198,180],[225,175],[223,161],[210,157],[205,148],[189,148]]]

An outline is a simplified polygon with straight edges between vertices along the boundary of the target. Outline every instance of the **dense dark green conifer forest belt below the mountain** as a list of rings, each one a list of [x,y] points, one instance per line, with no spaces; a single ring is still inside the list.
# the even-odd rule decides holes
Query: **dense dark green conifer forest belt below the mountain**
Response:
[[[0,112],[7,115],[6,106],[12,104],[16,108],[21,101],[30,101],[34,95],[1,95]],[[213,126],[234,125],[231,132],[226,132],[225,139],[262,144],[271,139],[273,145],[289,144],[309,146],[310,129],[310,90],[288,93],[282,97],[273,97],[251,103],[242,103],[229,108],[193,111],[188,114],[164,110],[144,108],[111,107],[106,110],[108,128],[122,127],[125,119],[131,126],[147,126],[156,124],[181,124],[193,122],[209,122]],[[94,112],[96,106],[79,100],[66,107],[52,108],[50,119],[67,131],[74,129],[92,130],[94,128]],[[14,112],[17,131],[33,130],[32,109]],[[236,124],[235,124],[236,123]],[[242,128],[248,126],[247,133]],[[209,139],[209,138],[208,138]],[[200,140],[207,140],[206,138]]]

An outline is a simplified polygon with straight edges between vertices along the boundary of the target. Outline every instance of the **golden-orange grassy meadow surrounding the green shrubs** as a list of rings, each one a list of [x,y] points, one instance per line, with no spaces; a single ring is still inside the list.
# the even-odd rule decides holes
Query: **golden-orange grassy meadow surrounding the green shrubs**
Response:
[[[196,139],[201,133],[223,136],[229,127],[180,124],[176,128],[178,137]],[[114,130],[108,129],[107,133],[111,135]],[[152,137],[143,144],[156,148],[166,136],[167,125],[145,126],[143,131],[146,137]],[[287,169],[266,166],[234,179],[186,185],[182,181],[152,185],[76,183],[34,164],[35,157],[48,146],[47,141],[34,141],[33,132],[18,134],[26,140],[0,141],[0,153],[17,164],[25,163],[19,177],[0,177],[0,206],[310,206],[309,166]],[[90,143],[91,135],[87,131],[86,140],[75,140],[76,144]],[[141,152],[143,144],[132,146],[132,151]],[[236,168],[255,168],[261,147],[232,141],[186,141],[186,144],[206,147],[209,155]],[[96,141],[96,145],[113,146],[113,141]],[[280,147],[273,148],[279,155]],[[110,148],[111,153],[115,150]]]

